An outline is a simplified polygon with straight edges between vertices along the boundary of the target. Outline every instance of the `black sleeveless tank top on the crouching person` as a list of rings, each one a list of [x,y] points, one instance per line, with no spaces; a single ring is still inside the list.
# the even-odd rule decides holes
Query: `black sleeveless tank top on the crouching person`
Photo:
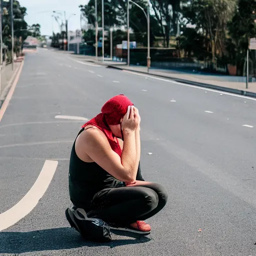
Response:
[[[78,132],[77,136],[83,130],[84,128]],[[108,189],[105,188],[120,187],[125,186],[125,184],[114,178],[97,163],[82,161],[75,152],[76,138],[71,149],[69,162],[69,195],[76,207],[84,208],[88,212],[93,208],[91,200],[96,193],[99,191],[107,193]]]

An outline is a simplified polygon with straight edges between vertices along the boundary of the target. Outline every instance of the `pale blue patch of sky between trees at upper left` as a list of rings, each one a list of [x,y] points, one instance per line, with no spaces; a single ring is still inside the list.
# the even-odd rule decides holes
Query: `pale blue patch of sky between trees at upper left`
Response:
[[[19,0],[21,6],[27,8],[25,20],[28,25],[39,23],[42,35],[51,35],[59,32],[60,28],[51,16],[52,11],[66,11],[68,30],[80,29],[80,4],[86,4],[88,0]],[[71,14],[75,15],[71,15]]]

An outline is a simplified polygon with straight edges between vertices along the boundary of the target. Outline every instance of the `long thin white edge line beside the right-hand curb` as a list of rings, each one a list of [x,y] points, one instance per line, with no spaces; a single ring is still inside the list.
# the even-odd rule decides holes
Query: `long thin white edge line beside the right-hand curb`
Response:
[[[216,90],[216,89],[204,88],[204,87],[200,87],[200,86],[196,86],[196,85],[186,84],[186,83],[182,83],[182,82],[176,82],[174,80],[171,80],[171,78],[164,79],[164,78],[154,77],[154,76],[151,76],[151,75],[136,73],[136,72],[132,72],[132,71],[128,71],[128,70],[122,70],[122,71],[126,72],[126,73],[135,74],[135,75],[146,76],[146,77],[149,77],[149,78],[152,78],[152,79],[156,79],[156,80],[160,80],[160,81],[176,83],[176,84],[180,84],[180,85],[183,85],[183,86],[187,86],[187,87],[191,87],[191,88],[196,88],[196,89],[200,89],[200,90],[207,90],[207,91],[216,92],[216,93],[220,92],[219,90]],[[252,97],[248,97],[248,96],[243,96],[243,95],[239,95],[239,94],[234,94],[234,93],[231,93],[231,92],[223,91],[222,94],[230,95],[230,96],[234,96],[234,97],[239,97],[239,98],[247,98],[247,99],[256,101],[256,98],[252,98]]]

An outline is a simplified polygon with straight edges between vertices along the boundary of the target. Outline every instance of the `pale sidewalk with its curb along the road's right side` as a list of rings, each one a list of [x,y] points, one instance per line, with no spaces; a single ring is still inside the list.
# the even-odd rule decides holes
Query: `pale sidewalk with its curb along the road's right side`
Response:
[[[178,72],[174,70],[167,69],[154,69],[150,68],[147,72],[147,67],[144,66],[127,66],[124,62],[111,61],[105,58],[102,62],[102,57],[96,58],[95,56],[88,55],[76,55],[74,57],[79,58],[83,61],[95,62],[97,64],[106,65],[108,67],[117,68],[120,70],[133,71],[138,73],[145,73],[150,75],[155,75],[159,77],[169,78],[177,82],[188,83],[196,86],[222,90],[226,92],[231,92],[235,94],[246,95],[250,97],[256,97],[256,82],[249,82],[248,88],[246,89],[245,82],[237,81],[226,81],[221,79],[221,76],[217,75],[206,75],[206,74],[190,74],[184,72]]]

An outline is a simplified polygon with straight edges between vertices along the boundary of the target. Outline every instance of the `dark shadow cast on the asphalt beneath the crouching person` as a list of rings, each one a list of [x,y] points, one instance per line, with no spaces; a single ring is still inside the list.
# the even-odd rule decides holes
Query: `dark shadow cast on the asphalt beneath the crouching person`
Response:
[[[116,233],[118,234],[118,233]],[[35,230],[30,232],[0,232],[1,253],[23,253],[43,250],[71,249],[78,247],[109,246],[110,248],[125,244],[150,241],[146,236],[129,235],[134,239],[116,239],[107,243],[85,241],[80,234],[70,227]]]

